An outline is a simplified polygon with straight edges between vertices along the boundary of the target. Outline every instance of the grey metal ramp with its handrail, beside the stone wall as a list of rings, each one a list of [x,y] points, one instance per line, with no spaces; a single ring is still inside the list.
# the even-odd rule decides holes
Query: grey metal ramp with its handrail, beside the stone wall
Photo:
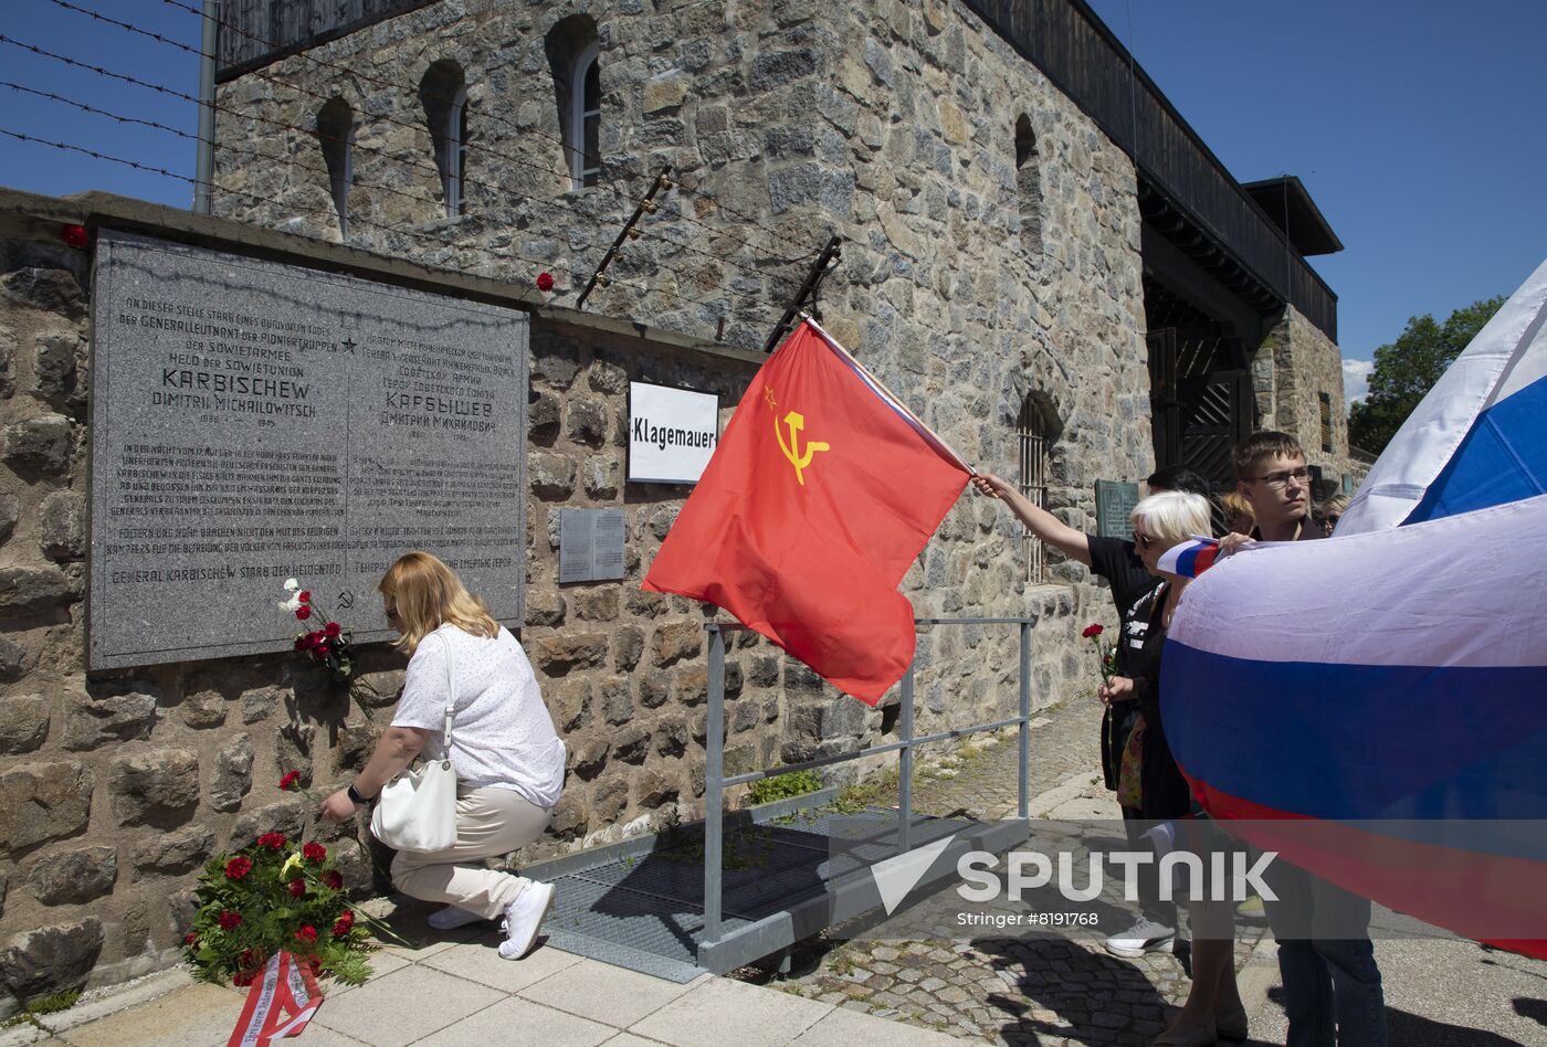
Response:
[[[916,619],[916,623],[1015,626],[1019,633],[1018,714],[919,738],[913,732],[914,668],[910,665],[900,682],[897,741],[726,776],[726,634],[746,626],[707,623],[704,807],[709,818],[664,837],[628,840],[526,869],[526,875],[555,886],[554,909],[545,923],[549,940],[580,956],[679,982],[704,971],[724,974],[877,909],[882,905],[877,866],[890,858],[951,837],[937,851],[922,855],[922,868],[908,866],[907,880],[914,885],[908,897],[924,897],[954,875],[956,860],[967,851],[998,854],[1023,841],[1029,832],[1035,620]],[[1016,728],[1019,742],[1016,820],[976,823],[911,813],[913,750],[917,745],[1010,727]],[[840,812],[826,803],[834,790],[825,790],[724,813],[729,786],[891,752],[897,753],[899,772],[894,809]],[[899,810],[910,817],[902,820]],[[902,908],[896,899],[893,906]]]

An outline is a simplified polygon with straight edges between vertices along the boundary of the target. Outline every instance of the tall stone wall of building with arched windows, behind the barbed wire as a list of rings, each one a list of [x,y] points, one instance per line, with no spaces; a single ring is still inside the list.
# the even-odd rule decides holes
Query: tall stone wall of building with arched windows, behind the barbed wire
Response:
[[[600,40],[610,170],[582,192],[545,49],[574,15]],[[455,220],[418,94],[442,60],[466,76],[473,144]],[[834,230],[825,325],[968,461],[1013,476],[1035,394],[1054,416],[1049,501],[1072,524],[1094,527],[1097,478],[1151,469],[1134,170],[959,3],[435,3],[221,85],[220,213],[339,235],[308,130],[333,96],[357,119],[351,243],[517,286],[552,271],[565,305],[670,164],[685,187],[588,309],[756,348]],[[1018,167],[1021,118],[1035,150]],[[1064,588],[1029,592],[1021,555],[1009,515],[970,496],[905,592],[925,616],[1058,608],[1040,633],[1060,651],[1040,667],[1049,694],[1080,676],[1075,619],[1108,605],[1075,564],[1057,568]],[[964,697],[959,714],[984,710],[1013,687],[1013,651],[939,629],[920,642],[919,693],[941,714]]]

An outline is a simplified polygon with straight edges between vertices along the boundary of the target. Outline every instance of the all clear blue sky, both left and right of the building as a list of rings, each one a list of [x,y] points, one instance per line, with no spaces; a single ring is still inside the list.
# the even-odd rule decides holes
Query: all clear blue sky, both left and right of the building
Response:
[[[193,0],[196,5],[196,0]],[[198,43],[161,0],[79,0]],[[1547,257],[1544,0],[1091,0],[1241,181],[1299,175],[1346,251],[1312,258],[1340,297],[1349,393],[1408,317],[1508,294]],[[198,62],[50,0],[0,0],[0,34],[196,93]],[[0,80],[186,133],[192,107],[0,43]],[[193,144],[0,87],[0,127],[193,173]],[[104,189],[178,207],[186,181],[0,136],[0,186]]]

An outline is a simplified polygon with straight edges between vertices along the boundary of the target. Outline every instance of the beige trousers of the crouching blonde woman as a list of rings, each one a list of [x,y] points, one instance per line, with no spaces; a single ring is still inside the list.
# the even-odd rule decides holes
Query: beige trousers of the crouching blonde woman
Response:
[[[458,790],[456,843],[446,851],[399,851],[391,882],[425,902],[447,902],[493,920],[531,883],[526,877],[486,869],[480,858],[509,854],[543,835],[549,813],[514,789]]]

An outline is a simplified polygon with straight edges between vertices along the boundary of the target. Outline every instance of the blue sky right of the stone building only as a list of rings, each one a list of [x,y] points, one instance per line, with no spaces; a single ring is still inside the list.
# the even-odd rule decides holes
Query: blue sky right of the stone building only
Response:
[[[1408,317],[1547,258],[1542,0],[1091,0],[1239,181],[1299,175],[1344,251],[1349,393]]]

